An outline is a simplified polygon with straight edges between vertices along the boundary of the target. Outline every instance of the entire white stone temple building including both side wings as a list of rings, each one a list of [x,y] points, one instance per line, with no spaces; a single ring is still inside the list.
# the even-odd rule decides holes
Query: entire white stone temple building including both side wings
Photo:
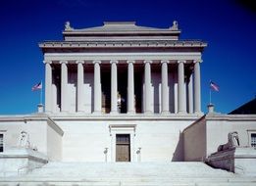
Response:
[[[231,153],[256,172],[250,166],[256,116],[202,113],[200,66],[207,43],[181,40],[180,32],[177,22],[169,28],[110,22],[81,29],[66,23],[64,40],[39,43],[45,108],[0,116],[0,176],[57,161],[156,167],[202,162],[212,160],[233,131],[242,148]]]

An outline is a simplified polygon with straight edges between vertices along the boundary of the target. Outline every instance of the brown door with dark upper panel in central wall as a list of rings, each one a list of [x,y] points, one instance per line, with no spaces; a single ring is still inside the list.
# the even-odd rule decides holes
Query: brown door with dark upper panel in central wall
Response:
[[[116,134],[116,162],[130,162],[129,134]]]

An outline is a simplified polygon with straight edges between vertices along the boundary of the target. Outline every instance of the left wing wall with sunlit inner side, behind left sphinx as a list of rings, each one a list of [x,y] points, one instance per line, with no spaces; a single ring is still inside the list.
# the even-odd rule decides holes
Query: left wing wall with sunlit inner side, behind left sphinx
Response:
[[[49,160],[62,159],[62,129],[46,115],[0,116],[4,151],[20,146],[21,132],[26,131],[30,149],[37,149]]]

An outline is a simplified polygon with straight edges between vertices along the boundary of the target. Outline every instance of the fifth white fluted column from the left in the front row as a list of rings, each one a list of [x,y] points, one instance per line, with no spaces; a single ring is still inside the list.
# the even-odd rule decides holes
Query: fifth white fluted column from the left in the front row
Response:
[[[110,61],[111,64],[111,114],[118,113],[118,61]]]

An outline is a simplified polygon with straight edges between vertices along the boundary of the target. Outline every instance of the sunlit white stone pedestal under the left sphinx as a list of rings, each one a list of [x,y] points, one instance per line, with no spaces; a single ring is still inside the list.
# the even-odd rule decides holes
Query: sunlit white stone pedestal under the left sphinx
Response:
[[[0,154],[0,176],[26,174],[45,163],[48,163],[48,158],[37,151],[22,147],[10,148]]]

